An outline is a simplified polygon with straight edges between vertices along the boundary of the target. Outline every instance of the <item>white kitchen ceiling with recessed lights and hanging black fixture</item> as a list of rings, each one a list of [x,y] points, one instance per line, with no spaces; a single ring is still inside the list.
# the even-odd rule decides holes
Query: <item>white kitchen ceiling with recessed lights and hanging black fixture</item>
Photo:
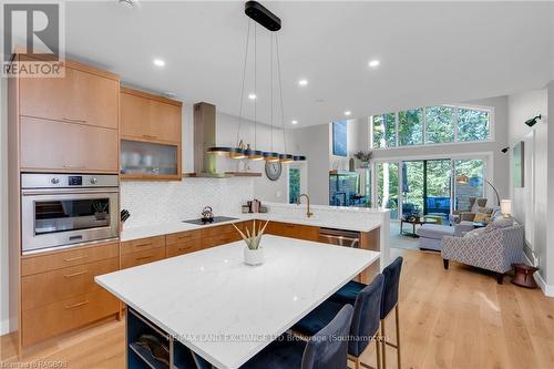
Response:
[[[538,89],[554,76],[552,2],[264,3],[283,20],[285,116],[298,126],[343,119],[346,110],[367,116]],[[124,83],[238,115],[243,9],[240,1],[69,2],[66,53]],[[269,122],[269,39],[258,31],[257,113]],[[381,65],[368,68],[371,59]],[[245,106],[252,119],[252,101]]]

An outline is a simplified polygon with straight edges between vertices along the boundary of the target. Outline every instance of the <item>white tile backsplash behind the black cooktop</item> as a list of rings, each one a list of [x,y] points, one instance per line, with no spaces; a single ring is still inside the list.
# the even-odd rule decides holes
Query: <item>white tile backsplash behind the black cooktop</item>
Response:
[[[197,218],[206,205],[212,206],[215,215],[237,214],[253,196],[252,178],[121,183],[121,208],[131,213],[125,227]]]

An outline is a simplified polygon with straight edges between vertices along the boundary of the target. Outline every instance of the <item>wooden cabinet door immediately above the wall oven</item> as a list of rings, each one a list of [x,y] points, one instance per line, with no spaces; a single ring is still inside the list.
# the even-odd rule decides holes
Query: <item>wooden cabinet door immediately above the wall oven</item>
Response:
[[[21,167],[61,172],[119,172],[117,131],[21,117]]]

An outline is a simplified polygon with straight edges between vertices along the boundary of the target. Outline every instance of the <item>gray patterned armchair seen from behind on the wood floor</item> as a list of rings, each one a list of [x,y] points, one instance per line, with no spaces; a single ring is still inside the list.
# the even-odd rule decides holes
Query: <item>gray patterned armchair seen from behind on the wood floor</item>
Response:
[[[445,236],[443,238],[444,268],[448,269],[449,260],[460,262],[495,271],[497,283],[502,284],[504,274],[512,269],[512,264],[522,260],[523,226],[489,226],[479,230],[463,237]]]

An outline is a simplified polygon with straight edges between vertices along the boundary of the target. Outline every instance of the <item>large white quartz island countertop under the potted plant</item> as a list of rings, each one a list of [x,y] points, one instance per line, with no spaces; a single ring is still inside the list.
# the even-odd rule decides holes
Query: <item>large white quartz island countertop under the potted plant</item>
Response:
[[[236,242],[95,280],[217,368],[234,369],[379,258],[271,235],[261,245],[260,266],[245,265]]]

